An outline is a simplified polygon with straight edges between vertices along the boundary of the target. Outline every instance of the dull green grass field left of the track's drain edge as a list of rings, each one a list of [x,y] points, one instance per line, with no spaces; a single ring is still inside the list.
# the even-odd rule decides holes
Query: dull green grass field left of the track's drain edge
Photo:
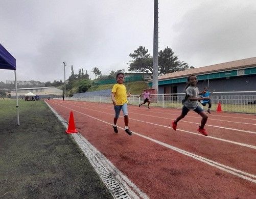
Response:
[[[0,99],[0,198],[113,198],[43,101]]]

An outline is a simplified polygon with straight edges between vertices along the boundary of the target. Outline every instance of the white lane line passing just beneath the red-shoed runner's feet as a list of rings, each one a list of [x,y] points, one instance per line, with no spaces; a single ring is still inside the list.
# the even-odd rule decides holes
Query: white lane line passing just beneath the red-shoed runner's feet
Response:
[[[58,104],[60,105],[60,104]],[[108,112],[103,112],[103,111],[100,111],[100,110],[95,110],[95,109],[90,109],[90,108],[85,108],[85,107],[80,107],[80,106],[76,106],[74,104],[71,104],[72,106],[75,106],[75,107],[79,107],[79,108],[84,108],[84,109],[88,109],[88,110],[93,110],[93,111],[96,111],[96,112],[101,112],[101,113],[105,113],[105,114],[108,114],[108,115],[111,115],[111,116],[114,116],[114,114],[112,113],[108,113]],[[60,106],[63,106],[63,105],[60,105]],[[64,106],[66,107],[66,106]],[[67,107],[66,107],[67,108]],[[122,117],[122,116],[120,116]],[[136,119],[133,119],[133,118],[130,118],[130,120],[134,120],[134,121],[138,121],[138,122],[144,122],[144,123],[147,123],[147,124],[152,124],[152,125],[156,125],[156,126],[160,126],[160,127],[164,127],[164,128],[169,128],[169,129],[172,129],[172,127],[169,127],[169,126],[164,126],[164,125],[160,125],[160,124],[155,124],[155,123],[151,123],[151,122],[146,122],[146,121],[142,121],[142,120],[136,120]],[[195,123],[197,124],[197,123]],[[203,136],[205,138],[212,138],[212,139],[217,139],[217,140],[220,140],[220,141],[225,141],[226,143],[231,143],[231,144],[235,144],[235,145],[239,145],[239,146],[243,146],[243,147],[248,147],[248,148],[251,148],[251,149],[256,149],[256,146],[253,146],[253,145],[247,145],[247,144],[244,144],[244,143],[238,143],[237,141],[231,141],[231,140],[227,140],[227,139],[222,139],[222,138],[218,138],[218,137],[212,137],[212,136],[204,136],[202,134],[199,134],[199,133],[194,133],[194,132],[191,132],[191,131],[186,131],[186,130],[182,130],[182,129],[177,129],[178,131],[183,131],[183,132],[186,132],[186,133],[191,133],[191,134],[194,134],[194,135],[197,135],[197,136]],[[232,130],[232,129],[231,129]],[[236,130],[236,129],[235,129]],[[246,131],[247,132],[247,131]],[[253,132],[253,133],[256,133],[256,132]]]

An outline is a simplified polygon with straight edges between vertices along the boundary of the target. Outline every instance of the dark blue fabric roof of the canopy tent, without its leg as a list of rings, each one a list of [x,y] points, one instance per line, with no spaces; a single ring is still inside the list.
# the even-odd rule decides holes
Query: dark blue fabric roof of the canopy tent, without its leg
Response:
[[[16,59],[0,43],[0,69],[16,70]]]

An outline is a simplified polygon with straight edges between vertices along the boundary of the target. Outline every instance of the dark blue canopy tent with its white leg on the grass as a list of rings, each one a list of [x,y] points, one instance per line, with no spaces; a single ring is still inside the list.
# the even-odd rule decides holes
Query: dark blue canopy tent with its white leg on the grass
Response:
[[[16,90],[16,101],[17,101],[17,124],[19,125],[19,105],[17,95],[17,79],[16,79],[16,59],[5,49],[0,43],[0,69],[14,70],[15,76],[15,90]]]

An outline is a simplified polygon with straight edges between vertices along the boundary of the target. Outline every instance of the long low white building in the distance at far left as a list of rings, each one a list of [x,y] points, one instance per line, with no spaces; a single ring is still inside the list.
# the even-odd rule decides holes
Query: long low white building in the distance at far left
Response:
[[[40,97],[60,97],[62,96],[63,91],[61,89],[57,89],[55,87],[39,87],[39,88],[24,88],[17,89],[17,95],[20,97],[24,97],[25,94],[32,92],[35,95]],[[11,90],[11,97],[16,95],[15,89]]]

